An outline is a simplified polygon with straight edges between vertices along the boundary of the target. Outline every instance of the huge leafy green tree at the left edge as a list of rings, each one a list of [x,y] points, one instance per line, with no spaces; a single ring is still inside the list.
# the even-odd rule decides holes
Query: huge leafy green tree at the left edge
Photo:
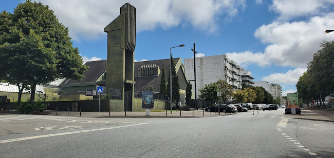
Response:
[[[73,48],[68,28],[42,3],[26,1],[0,14],[0,71],[3,80],[35,88],[57,78],[81,80],[87,67]],[[11,67],[8,67],[11,66]],[[15,76],[20,74],[20,76]],[[11,78],[11,79],[9,79]]]

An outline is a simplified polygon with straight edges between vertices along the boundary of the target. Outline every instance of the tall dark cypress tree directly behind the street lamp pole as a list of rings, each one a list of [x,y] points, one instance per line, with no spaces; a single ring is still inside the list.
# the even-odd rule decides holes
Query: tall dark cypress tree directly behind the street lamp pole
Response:
[[[174,103],[178,103],[179,100],[180,100],[180,85],[179,85],[179,77],[177,76],[176,74],[176,69],[175,69],[175,62],[174,62],[174,58],[173,56],[171,56],[171,59],[172,59],[172,95],[173,95],[173,102]],[[169,72],[169,75],[171,75],[171,71]],[[168,93],[168,96],[171,97],[171,94],[170,94],[170,84],[171,84],[171,79],[170,77],[168,77],[168,83],[167,83],[167,91],[169,92]]]

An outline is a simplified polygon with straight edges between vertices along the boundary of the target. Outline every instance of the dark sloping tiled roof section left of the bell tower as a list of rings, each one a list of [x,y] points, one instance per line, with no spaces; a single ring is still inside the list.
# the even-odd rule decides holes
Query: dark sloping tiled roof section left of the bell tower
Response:
[[[89,68],[88,71],[84,72],[83,81],[68,80],[65,84],[96,82],[107,69],[107,60],[86,62],[85,65],[89,66]]]

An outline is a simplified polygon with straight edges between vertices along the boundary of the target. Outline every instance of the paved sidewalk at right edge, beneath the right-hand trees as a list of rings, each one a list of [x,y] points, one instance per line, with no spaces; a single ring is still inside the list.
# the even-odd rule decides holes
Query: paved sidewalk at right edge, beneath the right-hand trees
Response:
[[[334,122],[334,109],[301,108],[302,114],[284,114],[287,118],[299,118],[304,120]]]

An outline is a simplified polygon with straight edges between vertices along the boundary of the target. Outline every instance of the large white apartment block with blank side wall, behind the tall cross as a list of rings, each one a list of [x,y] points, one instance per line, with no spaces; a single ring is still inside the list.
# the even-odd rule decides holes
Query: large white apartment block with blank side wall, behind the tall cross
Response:
[[[189,80],[194,80],[194,58],[184,59],[184,68]],[[241,89],[240,67],[236,62],[231,61],[227,55],[213,55],[196,57],[196,94],[205,85],[215,83],[218,80],[224,80],[229,83],[233,89]],[[191,82],[192,90],[195,90],[194,82]]]

